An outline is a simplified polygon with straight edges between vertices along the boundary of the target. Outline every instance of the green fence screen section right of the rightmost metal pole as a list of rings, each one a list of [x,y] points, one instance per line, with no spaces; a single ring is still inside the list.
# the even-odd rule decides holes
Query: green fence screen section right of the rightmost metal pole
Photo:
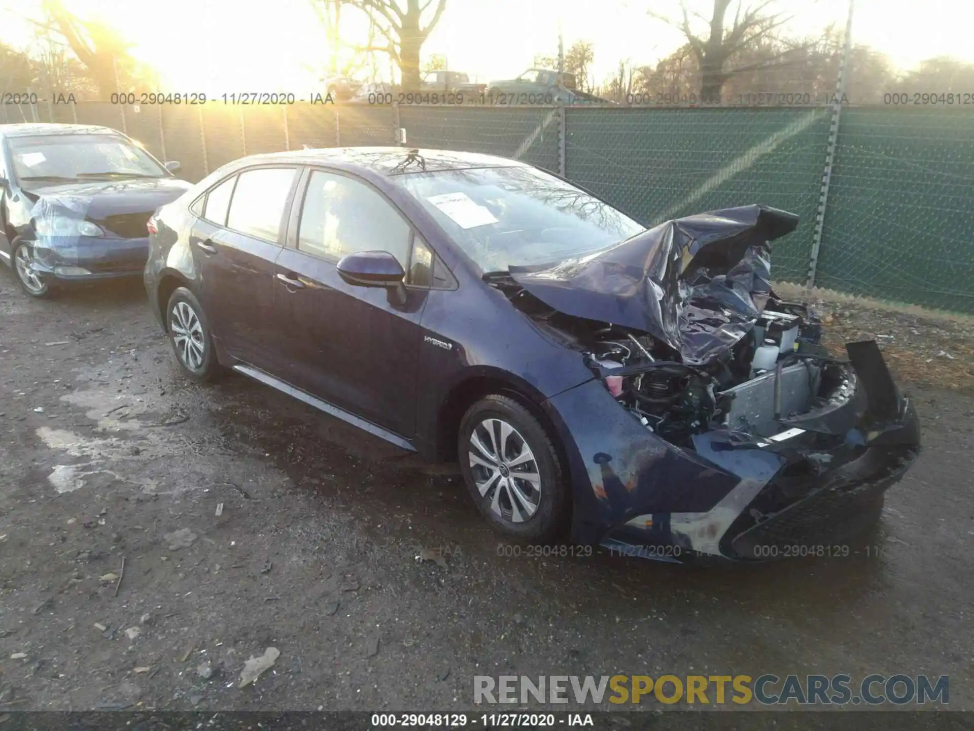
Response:
[[[974,312],[974,113],[843,111],[816,283]]]

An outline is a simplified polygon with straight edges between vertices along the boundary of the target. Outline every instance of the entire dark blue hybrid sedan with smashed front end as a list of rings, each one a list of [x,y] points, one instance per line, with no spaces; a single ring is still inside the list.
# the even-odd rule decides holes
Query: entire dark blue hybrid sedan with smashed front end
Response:
[[[511,160],[304,150],[162,208],[145,283],[188,375],[232,368],[459,461],[507,536],[757,560],[875,524],[919,451],[876,343],[830,353],[771,289],[797,223],[647,229]]]

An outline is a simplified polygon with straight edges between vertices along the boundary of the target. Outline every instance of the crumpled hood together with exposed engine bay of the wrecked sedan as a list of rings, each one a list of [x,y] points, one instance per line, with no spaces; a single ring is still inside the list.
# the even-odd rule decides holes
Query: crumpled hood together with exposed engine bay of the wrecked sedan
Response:
[[[798,216],[765,206],[667,221],[615,247],[485,275],[567,336],[612,396],[659,437],[693,448],[724,429],[773,438],[789,417],[841,404],[855,371],[821,322],[770,287],[770,242]]]

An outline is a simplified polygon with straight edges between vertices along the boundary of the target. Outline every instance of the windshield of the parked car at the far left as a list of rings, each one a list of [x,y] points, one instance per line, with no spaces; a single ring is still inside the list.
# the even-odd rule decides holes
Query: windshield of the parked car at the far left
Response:
[[[119,135],[10,137],[19,180],[169,177],[145,150]]]

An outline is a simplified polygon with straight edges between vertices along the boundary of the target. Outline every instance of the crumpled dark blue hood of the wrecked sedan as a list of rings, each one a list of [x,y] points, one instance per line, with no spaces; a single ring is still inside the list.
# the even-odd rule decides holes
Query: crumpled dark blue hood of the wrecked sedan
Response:
[[[523,289],[566,315],[649,332],[705,363],[754,327],[770,293],[768,242],[798,216],[752,205],[676,218],[554,266],[512,266]]]

